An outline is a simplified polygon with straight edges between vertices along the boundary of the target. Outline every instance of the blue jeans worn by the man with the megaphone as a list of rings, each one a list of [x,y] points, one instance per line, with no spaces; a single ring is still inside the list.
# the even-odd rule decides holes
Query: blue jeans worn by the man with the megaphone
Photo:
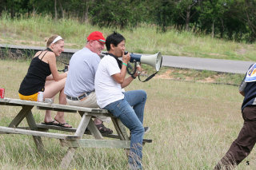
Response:
[[[144,90],[132,90],[124,93],[122,100],[114,101],[106,105],[107,109],[122,124],[130,129],[130,155],[128,163],[131,168],[142,169],[142,140],[144,135],[143,114],[146,104],[146,92]]]

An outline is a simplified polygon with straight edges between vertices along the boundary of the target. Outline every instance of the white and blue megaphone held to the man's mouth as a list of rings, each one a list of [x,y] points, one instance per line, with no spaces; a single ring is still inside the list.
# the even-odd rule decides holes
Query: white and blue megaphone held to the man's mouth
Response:
[[[160,52],[154,55],[139,55],[130,53],[130,62],[137,62],[138,64],[151,65],[158,72],[162,66],[162,54]]]

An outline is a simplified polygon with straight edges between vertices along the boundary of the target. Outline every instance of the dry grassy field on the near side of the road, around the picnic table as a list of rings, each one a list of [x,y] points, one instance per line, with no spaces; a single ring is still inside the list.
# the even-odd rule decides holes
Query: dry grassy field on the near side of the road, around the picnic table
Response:
[[[0,60],[0,65],[0,87],[6,89],[6,97],[18,98],[29,62]],[[212,169],[242,127],[238,86],[154,78],[146,83],[137,79],[126,90],[132,89],[145,89],[148,94],[144,124],[151,131],[145,138],[153,143],[143,148],[145,169]],[[0,125],[8,125],[18,110],[1,106]],[[42,122],[44,113],[33,112]],[[77,127],[80,118],[67,114],[66,120]],[[0,169],[57,169],[67,148],[54,139],[43,138],[43,143],[46,152],[39,154],[31,136],[1,135]],[[79,148],[69,169],[126,169],[126,161],[122,149]],[[237,169],[255,167],[253,150]]]

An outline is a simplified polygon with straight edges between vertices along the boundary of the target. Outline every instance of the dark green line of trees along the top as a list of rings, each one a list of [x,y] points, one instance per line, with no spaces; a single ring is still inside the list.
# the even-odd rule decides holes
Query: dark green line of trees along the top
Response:
[[[256,40],[256,0],[2,0],[0,15],[50,14],[120,29],[146,23],[210,34],[238,42]]]

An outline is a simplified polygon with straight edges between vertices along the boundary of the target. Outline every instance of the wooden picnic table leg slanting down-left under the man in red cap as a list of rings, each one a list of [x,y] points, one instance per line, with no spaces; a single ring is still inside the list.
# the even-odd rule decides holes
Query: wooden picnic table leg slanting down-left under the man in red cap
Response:
[[[82,116],[82,120],[78,125],[77,131],[75,132],[75,136],[81,136],[86,131],[86,127],[88,126],[89,122],[91,121],[91,116],[85,115],[84,112],[79,112]],[[66,155],[62,159],[62,163],[60,164],[60,168],[66,169],[69,167],[71,160],[73,159],[74,152],[77,147],[69,147],[67,149]]]

